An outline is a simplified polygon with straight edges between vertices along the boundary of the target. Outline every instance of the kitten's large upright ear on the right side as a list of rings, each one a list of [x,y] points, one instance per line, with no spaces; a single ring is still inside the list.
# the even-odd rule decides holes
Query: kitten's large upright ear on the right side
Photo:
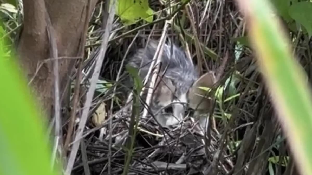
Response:
[[[207,91],[199,87],[211,88],[215,84],[216,77],[213,72],[207,72],[196,80],[188,92],[189,105],[193,109],[209,109],[211,99],[206,97]]]

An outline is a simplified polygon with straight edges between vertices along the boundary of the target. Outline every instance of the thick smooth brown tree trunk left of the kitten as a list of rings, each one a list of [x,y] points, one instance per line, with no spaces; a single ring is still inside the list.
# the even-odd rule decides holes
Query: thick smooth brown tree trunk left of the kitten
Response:
[[[96,2],[97,0],[91,0],[91,9],[94,9]],[[39,107],[47,115],[51,114],[53,105],[52,62],[42,64],[36,73],[38,65],[49,57],[45,16],[49,14],[56,32],[58,56],[76,57],[85,23],[86,4],[86,0],[23,0],[24,23],[17,50],[28,81],[35,76],[31,87]],[[74,61],[59,60],[61,90]]]

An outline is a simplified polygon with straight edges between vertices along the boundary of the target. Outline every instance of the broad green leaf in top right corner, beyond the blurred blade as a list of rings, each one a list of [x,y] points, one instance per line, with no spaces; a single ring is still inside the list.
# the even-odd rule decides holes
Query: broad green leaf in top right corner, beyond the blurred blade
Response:
[[[294,2],[289,8],[289,15],[307,30],[312,36],[312,2]]]

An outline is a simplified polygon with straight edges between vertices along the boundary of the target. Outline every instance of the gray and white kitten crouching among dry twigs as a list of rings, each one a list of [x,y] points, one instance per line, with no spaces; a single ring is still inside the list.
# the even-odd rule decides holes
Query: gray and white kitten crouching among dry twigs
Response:
[[[137,50],[130,59],[129,64],[140,69],[142,79],[148,73],[157,45],[158,42],[152,40],[146,49]],[[163,126],[175,125],[185,116],[188,104],[193,109],[207,108],[210,100],[207,98],[202,100],[201,95],[205,92],[198,87],[212,87],[214,79],[213,73],[206,73],[198,78],[195,66],[185,52],[176,45],[164,44],[150,105],[156,120]]]

